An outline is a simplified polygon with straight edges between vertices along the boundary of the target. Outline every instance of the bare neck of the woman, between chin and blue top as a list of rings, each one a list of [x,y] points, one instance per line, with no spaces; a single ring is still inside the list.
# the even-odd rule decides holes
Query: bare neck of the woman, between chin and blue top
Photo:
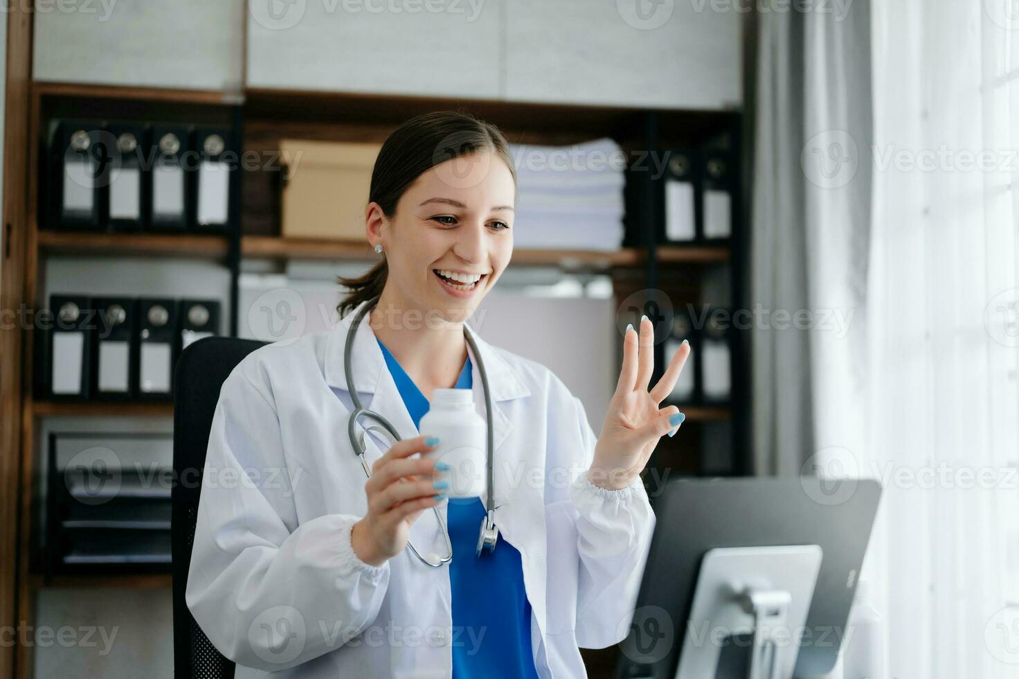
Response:
[[[467,361],[462,322],[448,322],[388,299],[385,291],[368,314],[368,324],[426,399],[432,389],[457,384]]]

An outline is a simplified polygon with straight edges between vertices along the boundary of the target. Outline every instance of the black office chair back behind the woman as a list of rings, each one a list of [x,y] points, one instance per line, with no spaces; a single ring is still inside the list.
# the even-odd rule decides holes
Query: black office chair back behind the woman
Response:
[[[219,389],[230,371],[265,343],[204,337],[189,345],[173,376],[173,473],[170,540],[173,555],[173,676],[232,679],[234,664],[209,641],[184,602],[195,544],[205,453]],[[186,470],[186,473],[184,471]],[[182,482],[181,482],[182,481]]]

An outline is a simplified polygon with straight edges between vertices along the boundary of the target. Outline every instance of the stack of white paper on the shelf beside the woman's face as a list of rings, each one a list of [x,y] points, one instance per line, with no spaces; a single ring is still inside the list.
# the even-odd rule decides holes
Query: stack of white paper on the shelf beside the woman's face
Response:
[[[620,249],[628,158],[615,142],[511,150],[517,166],[515,248]]]

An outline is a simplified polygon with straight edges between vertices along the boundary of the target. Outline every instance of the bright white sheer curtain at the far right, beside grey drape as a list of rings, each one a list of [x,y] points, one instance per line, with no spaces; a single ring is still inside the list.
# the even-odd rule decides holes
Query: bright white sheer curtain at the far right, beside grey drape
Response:
[[[890,677],[1019,676],[1019,11],[874,0],[864,574]]]

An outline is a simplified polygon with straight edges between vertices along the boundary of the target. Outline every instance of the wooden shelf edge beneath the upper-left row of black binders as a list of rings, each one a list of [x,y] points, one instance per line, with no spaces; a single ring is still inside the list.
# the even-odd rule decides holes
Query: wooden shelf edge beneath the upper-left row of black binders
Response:
[[[89,233],[40,229],[39,249],[54,254],[226,257],[227,238],[213,234]]]

